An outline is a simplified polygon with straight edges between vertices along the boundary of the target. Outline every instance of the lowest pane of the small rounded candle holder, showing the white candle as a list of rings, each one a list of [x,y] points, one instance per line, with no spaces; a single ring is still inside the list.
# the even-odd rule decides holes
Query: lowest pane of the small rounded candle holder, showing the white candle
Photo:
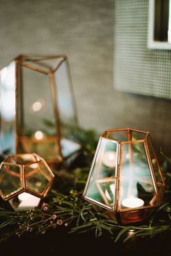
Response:
[[[29,194],[26,192],[22,192],[18,194],[16,197],[13,197],[9,200],[9,204],[16,212],[22,212],[25,210],[33,209],[38,206],[41,198],[33,196],[33,194]]]

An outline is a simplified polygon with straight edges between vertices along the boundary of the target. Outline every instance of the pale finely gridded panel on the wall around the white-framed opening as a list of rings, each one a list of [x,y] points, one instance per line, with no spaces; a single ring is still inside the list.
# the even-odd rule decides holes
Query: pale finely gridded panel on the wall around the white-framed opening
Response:
[[[114,13],[114,86],[171,99],[171,51],[147,47],[149,0],[116,0]]]

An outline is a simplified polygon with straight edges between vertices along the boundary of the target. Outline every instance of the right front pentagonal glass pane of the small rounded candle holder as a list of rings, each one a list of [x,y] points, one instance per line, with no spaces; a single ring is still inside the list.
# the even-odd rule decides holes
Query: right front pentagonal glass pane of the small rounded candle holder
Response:
[[[50,180],[51,173],[42,160],[25,166],[25,181],[28,189],[42,193],[49,185]]]

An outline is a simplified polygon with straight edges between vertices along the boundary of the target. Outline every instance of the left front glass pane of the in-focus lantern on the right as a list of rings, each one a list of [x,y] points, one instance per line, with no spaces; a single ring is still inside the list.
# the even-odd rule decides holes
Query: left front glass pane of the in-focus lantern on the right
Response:
[[[117,167],[117,144],[101,138],[92,165],[86,197],[113,209]]]

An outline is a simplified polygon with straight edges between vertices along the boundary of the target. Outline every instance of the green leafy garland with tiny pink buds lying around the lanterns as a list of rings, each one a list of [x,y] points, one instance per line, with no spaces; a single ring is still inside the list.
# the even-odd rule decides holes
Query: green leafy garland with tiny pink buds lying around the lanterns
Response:
[[[9,205],[1,200],[0,207],[0,241],[11,236],[22,236],[27,232],[45,234],[46,231],[59,226],[67,231],[94,231],[96,237],[109,233],[114,241],[127,241],[133,236],[155,236],[171,230],[171,173],[168,171],[169,157],[165,157],[162,171],[166,181],[164,202],[145,223],[136,226],[120,226],[106,215],[94,212],[92,205],[82,199],[88,170],[96,148],[97,135],[94,131],[80,130],[79,141],[82,149],[70,168],[61,165],[60,170],[54,170],[56,177],[48,196],[41,207],[27,212],[14,212]],[[126,234],[126,236],[124,235]]]

